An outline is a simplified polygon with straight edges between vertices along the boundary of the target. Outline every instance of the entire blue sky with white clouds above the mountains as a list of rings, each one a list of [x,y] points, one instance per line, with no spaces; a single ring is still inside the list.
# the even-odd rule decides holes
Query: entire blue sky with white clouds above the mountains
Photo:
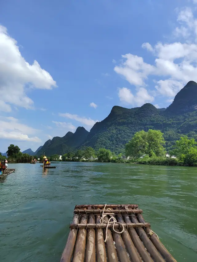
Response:
[[[115,105],[169,106],[197,81],[197,0],[7,0],[0,152],[90,131]]]

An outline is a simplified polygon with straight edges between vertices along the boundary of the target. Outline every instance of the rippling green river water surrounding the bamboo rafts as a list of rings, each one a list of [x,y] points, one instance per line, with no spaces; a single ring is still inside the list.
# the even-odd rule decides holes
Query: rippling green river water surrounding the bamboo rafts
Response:
[[[0,261],[58,262],[76,204],[139,204],[178,262],[197,261],[197,168],[9,164],[0,179]]]

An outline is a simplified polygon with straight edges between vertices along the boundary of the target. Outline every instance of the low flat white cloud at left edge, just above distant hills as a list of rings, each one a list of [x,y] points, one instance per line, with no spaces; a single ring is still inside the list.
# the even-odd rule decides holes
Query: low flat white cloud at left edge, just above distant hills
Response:
[[[38,131],[39,130],[19,123],[18,119],[14,117],[0,118],[0,138],[2,139],[42,142],[41,139],[39,139],[37,136],[28,136],[35,134]]]

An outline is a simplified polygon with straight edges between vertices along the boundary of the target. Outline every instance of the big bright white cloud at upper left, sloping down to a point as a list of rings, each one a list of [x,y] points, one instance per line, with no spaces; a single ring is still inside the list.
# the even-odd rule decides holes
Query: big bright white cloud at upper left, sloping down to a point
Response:
[[[25,61],[17,41],[0,25],[0,92],[1,101],[4,101],[0,110],[10,112],[12,104],[33,108],[34,102],[26,95],[27,89],[52,89],[55,86],[52,76],[37,61],[32,65]]]

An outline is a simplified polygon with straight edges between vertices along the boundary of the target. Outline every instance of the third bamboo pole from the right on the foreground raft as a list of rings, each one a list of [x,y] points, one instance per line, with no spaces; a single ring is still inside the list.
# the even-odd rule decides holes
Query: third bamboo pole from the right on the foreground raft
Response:
[[[124,221],[126,223],[131,223],[131,220],[128,215],[124,216]],[[131,239],[133,243],[135,244],[135,247],[137,248],[140,256],[142,257],[142,260],[144,262],[153,262],[151,256],[148,254],[147,250],[145,249],[142,241],[139,239],[139,236],[134,228],[128,228],[128,232],[131,236]]]

